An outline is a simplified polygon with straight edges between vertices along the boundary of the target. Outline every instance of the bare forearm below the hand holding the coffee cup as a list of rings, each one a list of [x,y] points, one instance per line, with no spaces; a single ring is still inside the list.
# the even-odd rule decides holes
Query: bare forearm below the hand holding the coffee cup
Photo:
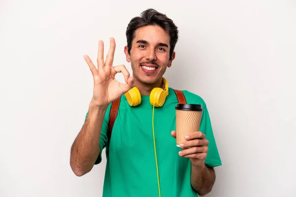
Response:
[[[199,196],[205,196],[212,191],[216,179],[214,168],[195,166],[191,164],[191,186]]]

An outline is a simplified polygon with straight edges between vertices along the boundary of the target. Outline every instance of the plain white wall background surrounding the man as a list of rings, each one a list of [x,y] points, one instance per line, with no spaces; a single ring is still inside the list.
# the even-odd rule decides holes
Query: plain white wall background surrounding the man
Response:
[[[180,30],[170,86],[208,105],[222,166],[207,197],[296,197],[295,0],[0,0],[0,197],[101,196],[105,152],[82,177],[69,164],[92,97],[83,55],[113,36],[131,72],[125,30],[150,7]]]

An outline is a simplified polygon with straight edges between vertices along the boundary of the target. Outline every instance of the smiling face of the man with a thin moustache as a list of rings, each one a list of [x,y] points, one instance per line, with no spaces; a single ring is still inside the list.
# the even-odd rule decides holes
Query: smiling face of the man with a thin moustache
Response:
[[[170,59],[170,35],[159,26],[138,28],[131,44],[130,55],[124,49],[126,60],[131,62],[133,77],[145,84],[162,79],[166,68],[172,65],[175,52]]]

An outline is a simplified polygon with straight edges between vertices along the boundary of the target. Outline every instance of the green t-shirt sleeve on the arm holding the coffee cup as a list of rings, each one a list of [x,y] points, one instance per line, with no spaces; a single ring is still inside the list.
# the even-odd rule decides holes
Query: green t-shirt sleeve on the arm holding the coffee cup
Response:
[[[208,108],[206,105],[203,108],[199,131],[203,132],[206,135],[206,139],[209,140],[209,145],[208,145],[209,150],[208,150],[207,158],[205,160],[205,164],[209,167],[222,165],[218,148],[216,145],[214,133],[212,130]]]

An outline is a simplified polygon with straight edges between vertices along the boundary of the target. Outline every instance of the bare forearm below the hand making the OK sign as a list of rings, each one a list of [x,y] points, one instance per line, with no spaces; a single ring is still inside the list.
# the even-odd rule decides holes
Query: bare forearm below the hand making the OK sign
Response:
[[[70,165],[77,176],[88,173],[100,153],[101,128],[107,107],[89,105],[88,115],[71,148]]]

